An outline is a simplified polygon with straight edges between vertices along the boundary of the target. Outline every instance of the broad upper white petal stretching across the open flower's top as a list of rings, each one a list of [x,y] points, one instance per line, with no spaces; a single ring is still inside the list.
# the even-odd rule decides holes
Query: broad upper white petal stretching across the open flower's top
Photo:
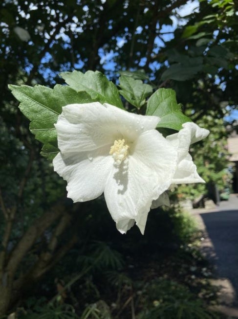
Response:
[[[116,139],[133,142],[141,132],[154,129],[157,116],[130,114],[99,102],[63,107],[55,124],[61,152],[88,151],[113,145]]]

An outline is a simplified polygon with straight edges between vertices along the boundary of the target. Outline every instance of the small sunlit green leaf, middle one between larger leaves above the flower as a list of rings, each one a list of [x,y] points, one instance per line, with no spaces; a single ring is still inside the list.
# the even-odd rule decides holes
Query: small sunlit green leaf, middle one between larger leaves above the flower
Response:
[[[134,80],[132,77],[121,76],[119,78],[120,94],[125,99],[140,109],[145,103],[146,98],[152,94],[152,87],[144,84],[141,80]]]

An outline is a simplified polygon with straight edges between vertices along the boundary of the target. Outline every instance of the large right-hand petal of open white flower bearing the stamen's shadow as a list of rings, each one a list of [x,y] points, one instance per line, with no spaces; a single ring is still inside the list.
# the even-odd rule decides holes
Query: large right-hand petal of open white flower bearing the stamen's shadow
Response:
[[[128,162],[114,167],[104,192],[120,232],[135,220],[144,233],[151,203],[170,186],[175,166],[176,152],[160,133],[151,130],[138,138]]]

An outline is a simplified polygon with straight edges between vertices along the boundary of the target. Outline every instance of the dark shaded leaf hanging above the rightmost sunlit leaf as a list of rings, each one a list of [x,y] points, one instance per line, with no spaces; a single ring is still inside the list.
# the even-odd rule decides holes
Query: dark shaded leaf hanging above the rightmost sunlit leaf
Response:
[[[202,70],[202,64],[195,66],[186,66],[181,63],[175,63],[161,75],[161,80],[165,81],[168,79],[176,81],[185,81],[191,79],[196,73]]]

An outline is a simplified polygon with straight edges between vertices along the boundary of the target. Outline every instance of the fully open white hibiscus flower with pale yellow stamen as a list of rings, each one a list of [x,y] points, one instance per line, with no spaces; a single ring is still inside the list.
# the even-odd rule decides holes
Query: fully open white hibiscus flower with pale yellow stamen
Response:
[[[67,196],[84,202],[104,192],[121,233],[134,222],[144,233],[152,201],[175,174],[177,149],[155,130],[158,121],[94,102],[63,107],[55,125],[60,153],[53,165]]]

